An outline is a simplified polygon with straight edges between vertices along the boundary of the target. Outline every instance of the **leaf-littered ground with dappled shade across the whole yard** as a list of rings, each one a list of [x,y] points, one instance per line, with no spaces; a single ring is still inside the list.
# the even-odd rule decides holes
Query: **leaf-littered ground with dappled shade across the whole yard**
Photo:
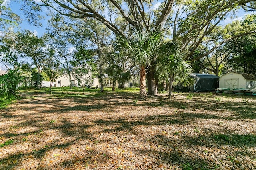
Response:
[[[175,93],[144,101],[138,90],[22,96],[0,110],[0,170],[256,169],[256,97]]]

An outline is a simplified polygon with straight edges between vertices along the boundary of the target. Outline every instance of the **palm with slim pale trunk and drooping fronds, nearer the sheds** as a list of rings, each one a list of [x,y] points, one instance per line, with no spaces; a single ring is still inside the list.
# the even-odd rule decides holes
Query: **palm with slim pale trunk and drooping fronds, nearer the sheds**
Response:
[[[184,60],[181,55],[178,45],[169,41],[164,43],[159,51],[159,61],[162,66],[166,69],[169,77],[169,96],[168,99],[172,97],[172,87],[175,80],[182,80],[188,78],[189,74],[192,72],[191,66]]]

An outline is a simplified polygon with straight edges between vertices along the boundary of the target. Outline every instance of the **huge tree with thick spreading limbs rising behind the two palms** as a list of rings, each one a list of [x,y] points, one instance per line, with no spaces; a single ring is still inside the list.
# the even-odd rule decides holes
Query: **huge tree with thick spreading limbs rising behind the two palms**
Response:
[[[241,7],[244,10],[255,10],[255,0],[164,0],[156,9],[152,8],[153,5],[156,5],[155,1],[138,0],[108,0],[104,2],[99,0],[90,2],[74,0],[42,0],[39,2],[26,0],[26,2],[30,3],[32,8],[36,10],[41,10],[40,6],[47,6],[63,16],[83,18],[84,23],[87,22],[86,18],[94,18],[103,23],[114,34],[128,39],[130,34],[125,32],[126,29],[123,29],[122,25],[127,24],[133,31],[173,30],[172,41],[180,46],[186,60],[200,59],[211,53],[219,45],[241,35],[256,31],[255,29],[247,29],[243,33],[222,39],[208,53],[192,58],[194,51],[204,43],[204,37],[216,26],[220,25],[221,21]],[[106,12],[110,16],[109,18],[105,17]],[[120,21],[117,20],[118,18],[122,18],[122,21],[125,21],[126,24],[118,24],[118,21]],[[155,59],[156,57],[149,64],[150,72],[148,73],[152,73],[156,69],[154,67]],[[156,94],[157,89],[154,88],[156,87],[156,81],[152,76],[152,74],[147,76],[148,82],[150,82],[148,88],[150,93]]]

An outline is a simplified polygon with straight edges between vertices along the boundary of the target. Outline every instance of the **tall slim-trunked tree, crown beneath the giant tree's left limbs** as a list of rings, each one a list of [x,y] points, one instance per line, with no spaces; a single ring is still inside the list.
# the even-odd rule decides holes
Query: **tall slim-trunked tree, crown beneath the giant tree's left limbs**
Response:
[[[99,8],[98,10],[100,10]],[[86,23],[84,23],[86,21]],[[60,33],[68,39],[74,47],[77,44],[87,44],[96,51],[96,63],[98,65],[98,78],[100,82],[100,91],[103,91],[103,78],[106,65],[106,53],[109,52],[111,41],[110,30],[101,22],[94,18],[74,19],[72,17],[64,18],[60,14],[54,14],[49,21],[52,30]]]

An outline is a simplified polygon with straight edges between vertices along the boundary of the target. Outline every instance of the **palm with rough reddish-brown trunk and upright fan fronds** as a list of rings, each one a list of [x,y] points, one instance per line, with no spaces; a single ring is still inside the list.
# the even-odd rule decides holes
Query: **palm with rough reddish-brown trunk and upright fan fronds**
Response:
[[[147,98],[146,91],[146,68],[147,64],[152,60],[156,49],[159,47],[162,32],[143,32],[138,31],[134,38],[127,40],[124,37],[117,37],[115,49],[123,49],[129,53],[133,61],[140,66],[140,97]]]

